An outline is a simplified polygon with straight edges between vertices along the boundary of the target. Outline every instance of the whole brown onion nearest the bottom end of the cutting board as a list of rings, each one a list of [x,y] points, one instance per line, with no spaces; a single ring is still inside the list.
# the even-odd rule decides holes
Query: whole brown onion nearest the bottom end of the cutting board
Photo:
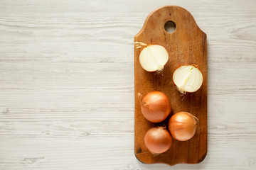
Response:
[[[172,143],[171,135],[165,127],[151,128],[144,136],[146,148],[154,154],[166,152]]]

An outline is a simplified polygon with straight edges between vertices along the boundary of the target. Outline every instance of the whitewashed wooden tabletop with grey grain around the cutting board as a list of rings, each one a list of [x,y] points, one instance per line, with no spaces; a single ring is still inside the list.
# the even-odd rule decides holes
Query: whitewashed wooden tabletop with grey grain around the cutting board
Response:
[[[183,6],[208,35],[208,155],[134,157],[133,38]],[[0,1],[0,169],[256,169],[256,1]]]

